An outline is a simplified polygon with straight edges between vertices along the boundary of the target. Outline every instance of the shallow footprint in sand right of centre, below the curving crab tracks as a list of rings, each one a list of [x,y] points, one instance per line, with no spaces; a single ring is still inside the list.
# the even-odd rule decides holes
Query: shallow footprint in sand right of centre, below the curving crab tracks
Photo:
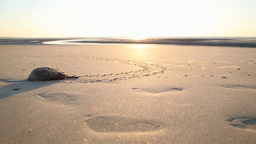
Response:
[[[138,92],[148,92],[148,93],[162,93],[162,92],[180,92],[182,88],[169,88],[169,87],[150,87],[150,88],[132,88],[132,90]]]

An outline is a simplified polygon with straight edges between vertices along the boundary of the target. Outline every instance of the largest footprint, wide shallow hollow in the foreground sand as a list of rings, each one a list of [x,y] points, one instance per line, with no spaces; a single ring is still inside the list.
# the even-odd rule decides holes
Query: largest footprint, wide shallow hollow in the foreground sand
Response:
[[[157,122],[125,116],[96,116],[86,120],[86,123],[96,132],[149,132],[160,128]]]

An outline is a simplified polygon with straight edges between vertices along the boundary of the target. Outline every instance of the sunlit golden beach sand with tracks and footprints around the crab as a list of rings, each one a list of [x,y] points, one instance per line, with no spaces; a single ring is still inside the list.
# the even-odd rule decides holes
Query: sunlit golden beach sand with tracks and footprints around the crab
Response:
[[[0,45],[1,144],[255,144],[255,94],[255,48]]]

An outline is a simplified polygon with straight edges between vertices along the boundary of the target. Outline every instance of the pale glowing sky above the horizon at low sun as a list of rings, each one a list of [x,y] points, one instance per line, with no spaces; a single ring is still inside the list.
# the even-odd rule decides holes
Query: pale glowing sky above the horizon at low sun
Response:
[[[256,0],[0,0],[0,37],[256,37]]]

